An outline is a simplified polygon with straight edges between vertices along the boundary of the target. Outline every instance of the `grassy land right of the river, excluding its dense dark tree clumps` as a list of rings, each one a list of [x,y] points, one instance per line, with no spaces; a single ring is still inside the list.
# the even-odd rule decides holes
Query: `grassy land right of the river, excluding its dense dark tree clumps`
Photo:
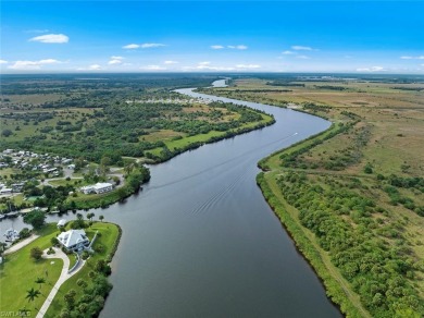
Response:
[[[424,192],[420,186],[392,186],[392,180],[394,176],[412,180],[424,175],[424,84],[297,81],[304,87],[285,87],[266,85],[267,82],[240,80],[235,82],[236,86],[217,88],[213,94],[284,107],[294,102],[303,111],[334,122],[320,136],[261,160],[265,173],[259,181],[270,205],[323,279],[328,296],[351,317],[366,317],[370,313],[375,317],[387,313],[391,313],[391,317],[419,317],[423,307],[417,304],[424,303],[424,218],[417,211],[424,206]],[[266,91],[271,88],[273,91]],[[423,89],[408,90],[410,88]],[[337,130],[340,131],[334,133]],[[311,230],[314,224],[304,225],[301,199],[305,200],[307,196],[304,189],[299,192],[302,183],[292,181],[297,175],[304,178],[303,182],[311,188],[321,188],[332,195],[333,200],[340,201],[341,210],[332,211],[326,207],[325,211],[332,211],[328,216],[334,221],[341,222],[352,233],[366,228],[370,244],[385,246],[382,250],[397,250],[396,257],[411,264],[404,272],[395,269],[391,274],[396,273],[398,282],[411,289],[417,304],[402,301],[401,294],[395,298],[391,294],[384,295],[389,288],[379,291],[377,282],[371,286],[374,293],[359,289],[357,278],[361,271],[349,277],[346,268],[335,262],[335,252],[323,248],[323,237]],[[387,192],[390,186],[396,187],[395,197]],[[375,208],[369,209],[376,211],[361,216],[357,207],[345,207],[335,189],[372,201]],[[412,205],[408,204],[411,201]],[[362,256],[369,257],[365,253]],[[387,257],[376,264],[382,261],[387,266],[392,261]],[[386,281],[390,279],[387,277]],[[378,303],[378,293],[387,297],[385,302]]]

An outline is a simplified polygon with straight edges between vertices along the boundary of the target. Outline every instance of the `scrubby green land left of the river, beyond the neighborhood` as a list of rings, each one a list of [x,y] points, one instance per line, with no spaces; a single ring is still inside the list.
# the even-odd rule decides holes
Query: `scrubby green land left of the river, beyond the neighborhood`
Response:
[[[5,76],[0,95],[0,150],[17,148],[112,163],[122,157],[163,161],[175,148],[263,123],[260,112],[229,103],[204,103],[173,89],[202,87],[215,76],[157,78],[32,78]],[[161,156],[158,154],[166,154]]]

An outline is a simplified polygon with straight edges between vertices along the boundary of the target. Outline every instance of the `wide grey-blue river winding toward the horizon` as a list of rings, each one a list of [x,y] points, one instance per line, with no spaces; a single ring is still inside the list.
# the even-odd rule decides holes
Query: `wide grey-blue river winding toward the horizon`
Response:
[[[340,317],[255,184],[261,158],[331,123],[177,91],[260,109],[276,123],[152,166],[142,192],[93,211],[123,229],[112,262],[114,288],[100,316]],[[12,224],[22,228],[20,219],[3,220],[0,231]]]

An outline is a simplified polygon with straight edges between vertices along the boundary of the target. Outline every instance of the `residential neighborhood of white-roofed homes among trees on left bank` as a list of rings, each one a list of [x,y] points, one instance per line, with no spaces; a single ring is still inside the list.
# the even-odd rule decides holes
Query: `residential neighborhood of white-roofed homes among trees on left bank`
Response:
[[[109,162],[109,163],[108,163]],[[41,208],[66,212],[107,207],[140,189],[150,179],[135,159],[121,166],[15,149],[0,152],[0,220]]]

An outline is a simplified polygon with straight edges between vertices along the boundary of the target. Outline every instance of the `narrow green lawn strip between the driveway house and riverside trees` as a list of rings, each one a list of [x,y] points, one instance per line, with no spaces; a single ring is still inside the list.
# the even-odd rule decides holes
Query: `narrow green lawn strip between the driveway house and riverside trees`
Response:
[[[96,231],[99,231],[99,233],[101,233],[101,236],[97,237],[93,244],[93,248],[96,248],[97,245],[101,244],[104,246],[104,250],[102,253],[96,253],[93,256],[91,256],[91,258],[86,262],[84,268],[71,279],[68,279],[59,289],[59,293],[57,294],[55,298],[51,303],[51,306],[45,315],[46,318],[59,317],[62,309],[65,308],[63,295],[65,295],[70,290],[75,290],[77,295],[82,294],[83,289],[76,284],[78,279],[85,280],[88,283],[88,286],[90,286],[91,278],[88,276],[88,273],[93,270],[93,267],[99,259],[105,259],[108,255],[112,253],[113,246],[115,245],[115,242],[120,235],[119,227],[112,223],[96,222],[90,229],[86,229],[86,233],[90,238],[95,235]],[[78,299],[78,296],[76,297],[76,299]]]

